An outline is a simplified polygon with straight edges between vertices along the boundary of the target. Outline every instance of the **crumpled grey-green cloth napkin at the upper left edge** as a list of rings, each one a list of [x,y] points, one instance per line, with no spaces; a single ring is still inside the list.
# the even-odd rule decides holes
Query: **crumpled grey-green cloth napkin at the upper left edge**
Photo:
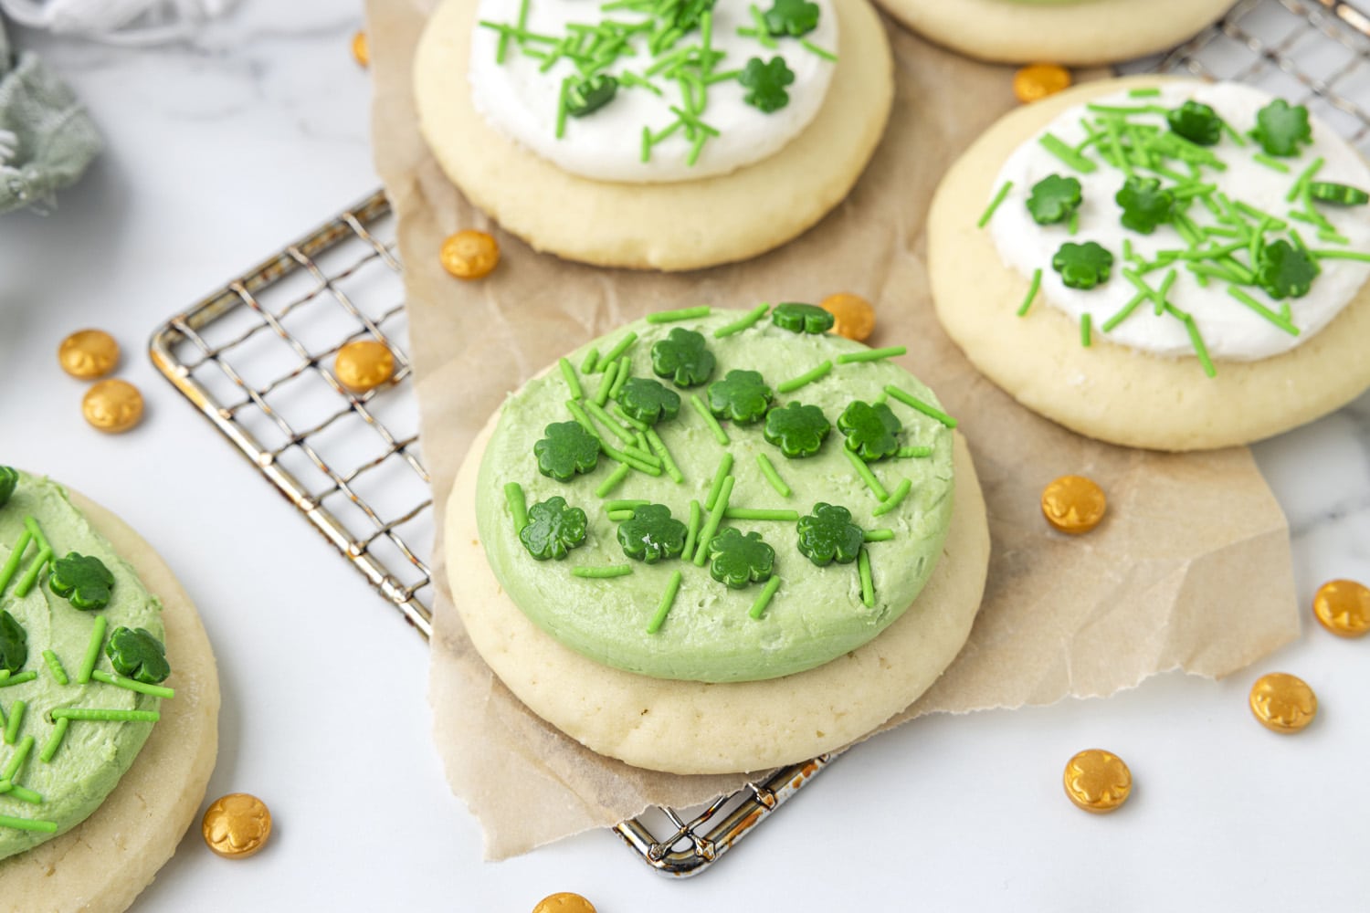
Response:
[[[14,57],[0,22],[0,212],[51,205],[100,146],[71,89],[33,53]]]

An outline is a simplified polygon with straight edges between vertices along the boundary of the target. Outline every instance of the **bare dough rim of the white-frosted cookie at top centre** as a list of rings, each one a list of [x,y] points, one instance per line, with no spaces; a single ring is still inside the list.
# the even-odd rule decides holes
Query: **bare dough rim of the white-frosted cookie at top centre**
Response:
[[[673,183],[575,177],[493,129],[467,83],[477,0],[444,0],[414,64],[419,126],[448,177],[534,249],[596,266],[693,270],[756,256],[818,222],[885,130],[893,68],[866,0],[833,0],[838,63],[810,125],[730,174]]]

